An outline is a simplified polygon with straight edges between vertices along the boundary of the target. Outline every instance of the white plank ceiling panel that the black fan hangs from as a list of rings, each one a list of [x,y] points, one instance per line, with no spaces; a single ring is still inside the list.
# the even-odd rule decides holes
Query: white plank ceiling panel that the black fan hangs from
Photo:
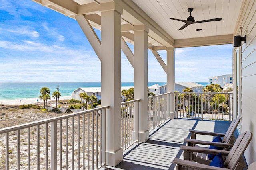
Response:
[[[173,39],[188,39],[233,34],[242,0],[132,0]],[[196,23],[178,31],[187,20],[188,8],[194,8],[195,21],[221,18],[221,21]],[[196,31],[202,29],[202,31]]]

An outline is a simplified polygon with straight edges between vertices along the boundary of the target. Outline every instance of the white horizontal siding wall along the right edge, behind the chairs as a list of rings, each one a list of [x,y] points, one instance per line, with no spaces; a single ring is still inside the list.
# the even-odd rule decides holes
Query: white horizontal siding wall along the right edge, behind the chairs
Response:
[[[256,161],[256,0],[244,0],[235,35],[246,35],[247,45],[241,47],[241,131],[251,131],[252,141],[245,151],[248,164]],[[240,29],[240,27],[242,27]]]

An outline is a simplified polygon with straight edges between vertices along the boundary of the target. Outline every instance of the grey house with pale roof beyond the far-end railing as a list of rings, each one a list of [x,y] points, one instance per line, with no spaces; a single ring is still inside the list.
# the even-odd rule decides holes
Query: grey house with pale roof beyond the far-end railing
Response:
[[[202,92],[204,85],[195,82],[176,82],[175,91],[183,92],[184,88],[191,88],[193,92]]]

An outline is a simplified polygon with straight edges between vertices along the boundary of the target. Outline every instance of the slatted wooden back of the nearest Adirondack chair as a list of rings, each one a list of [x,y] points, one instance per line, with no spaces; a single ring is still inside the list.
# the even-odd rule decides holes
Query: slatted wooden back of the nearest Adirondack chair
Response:
[[[230,150],[230,153],[228,154],[226,160],[224,161],[226,168],[234,169],[236,167],[239,159],[244,154],[244,151],[246,150],[251,139],[251,132],[244,132],[238,136],[236,142],[234,143],[232,149]]]

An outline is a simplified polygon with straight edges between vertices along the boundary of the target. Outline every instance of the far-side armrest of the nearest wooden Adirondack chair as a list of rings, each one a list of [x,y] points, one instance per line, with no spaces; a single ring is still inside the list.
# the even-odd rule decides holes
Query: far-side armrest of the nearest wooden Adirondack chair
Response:
[[[218,149],[209,149],[204,147],[189,147],[189,146],[180,146],[180,149],[184,150],[184,152],[197,152],[197,153],[207,153],[207,154],[219,154],[221,153],[223,156],[228,156],[230,151],[227,150],[218,150]]]

